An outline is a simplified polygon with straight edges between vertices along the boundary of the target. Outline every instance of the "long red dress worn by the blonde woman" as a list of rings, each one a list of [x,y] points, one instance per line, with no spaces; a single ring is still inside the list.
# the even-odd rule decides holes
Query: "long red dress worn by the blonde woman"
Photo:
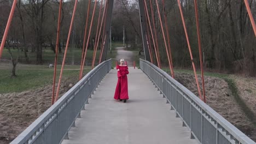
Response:
[[[115,88],[114,99],[129,99],[128,97],[128,81],[127,74],[129,74],[127,65],[117,65],[118,71],[118,83]]]

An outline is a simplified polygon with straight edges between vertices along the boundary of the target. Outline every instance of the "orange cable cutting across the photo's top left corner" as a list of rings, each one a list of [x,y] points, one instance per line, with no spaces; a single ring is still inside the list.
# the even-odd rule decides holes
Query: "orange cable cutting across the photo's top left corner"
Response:
[[[7,38],[8,32],[9,32],[9,27],[10,27],[10,24],[11,24],[11,20],[13,20],[13,13],[14,13],[14,10],[16,8],[16,3],[17,3],[17,0],[14,0],[13,1],[13,6],[11,7],[10,15],[9,15],[9,18],[8,18],[8,21],[7,21],[7,25],[5,27],[2,43],[1,43],[1,46],[0,46],[0,58],[2,57],[2,52],[3,52],[5,40]]]

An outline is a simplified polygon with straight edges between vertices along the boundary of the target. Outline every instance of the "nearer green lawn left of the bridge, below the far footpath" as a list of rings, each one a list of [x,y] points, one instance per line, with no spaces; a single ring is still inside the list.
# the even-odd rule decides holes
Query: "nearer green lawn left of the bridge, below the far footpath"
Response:
[[[19,64],[18,64],[19,65]],[[20,65],[21,66],[21,65]],[[1,68],[1,67],[0,67]],[[67,65],[63,70],[62,80],[73,77],[78,80],[78,65]],[[90,68],[84,69],[84,75]],[[25,65],[16,70],[17,77],[10,77],[11,69],[0,69],[0,93],[22,92],[53,83],[53,68],[43,65]],[[60,69],[57,70],[56,80],[59,80]]]

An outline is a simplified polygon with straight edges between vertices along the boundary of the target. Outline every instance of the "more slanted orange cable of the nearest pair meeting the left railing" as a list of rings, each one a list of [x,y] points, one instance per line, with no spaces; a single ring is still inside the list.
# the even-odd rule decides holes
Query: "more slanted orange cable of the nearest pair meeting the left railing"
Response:
[[[69,32],[68,32],[67,44],[66,44],[66,48],[65,48],[65,53],[64,53],[63,61],[62,61],[61,71],[60,71],[60,77],[59,77],[59,83],[58,83],[58,87],[57,87],[55,102],[57,101],[58,96],[59,96],[59,92],[60,92],[61,77],[62,77],[62,72],[63,72],[63,69],[64,69],[65,60],[66,60],[66,56],[67,56],[68,43],[69,43],[69,38],[70,38],[70,35],[71,35],[71,31],[72,31],[75,10],[77,9],[77,2],[78,2],[78,0],[75,0],[74,10],[73,10],[72,19],[71,19],[71,23],[70,23],[70,27],[69,27]]]

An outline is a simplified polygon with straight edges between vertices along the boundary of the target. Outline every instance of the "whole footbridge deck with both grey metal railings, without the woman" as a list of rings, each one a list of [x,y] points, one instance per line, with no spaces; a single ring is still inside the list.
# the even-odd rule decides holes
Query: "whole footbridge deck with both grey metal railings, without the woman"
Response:
[[[130,67],[129,100],[113,99],[117,71],[98,65],[11,143],[255,143],[155,65]]]

